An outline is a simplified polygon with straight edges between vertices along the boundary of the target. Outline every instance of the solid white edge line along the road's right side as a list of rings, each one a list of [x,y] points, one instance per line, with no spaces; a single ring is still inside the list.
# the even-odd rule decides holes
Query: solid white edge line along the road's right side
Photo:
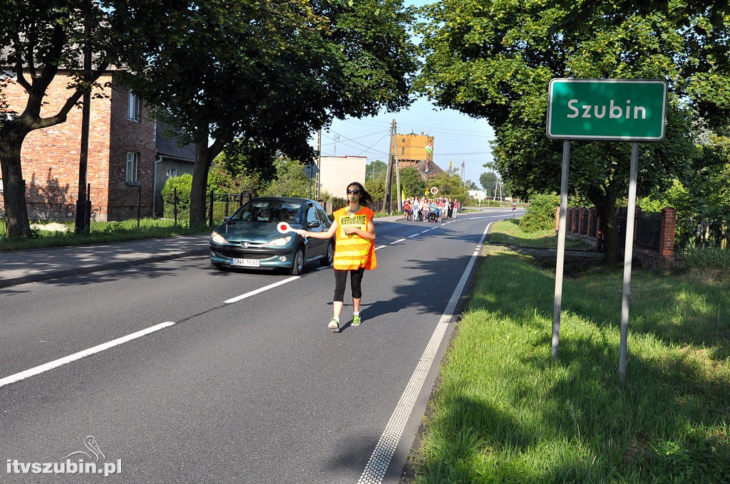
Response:
[[[484,229],[482,238],[477,246],[482,246],[482,243],[489,231],[489,227],[493,223],[494,222],[489,222],[487,227]],[[420,394],[420,391],[423,388],[423,383],[426,381],[426,375],[429,374],[431,366],[434,363],[434,357],[436,356],[439,346],[441,346],[441,341],[446,333],[446,328],[451,321],[453,311],[456,309],[456,304],[458,303],[459,298],[461,298],[461,292],[464,291],[466,281],[469,280],[469,275],[472,273],[478,254],[478,251],[475,252],[472,254],[471,259],[469,259],[469,263],[466,265],[466,269],[464,269],[464,274],[462,274],[461,280],[456,285],[456,289],[454,289],[453,294],[451,294],[451,299],[447,303],[446,309],[442,314],[441,319],[439,319],[436,329],[434,329],[434,332],[431,335],[429,344],[426,345],[426,350],[423,351],[423,356],[420,357],[415,371],[411,375],[395,410],[393,410],[390,420],[385,426],[383,434],[380,435],[380,440],[377,441],[377,445],[375,445],[372,454],[370,454],[370,458],[365,466],[365,470],[358,480],[358,484],[377,484],[383,482],[385,472],[388,471],[393,454],[396,453],[398,442],[401,440],[401,435],[403,434],[406,423],[410,418],[416,399],[418,399],[418,394]]]

